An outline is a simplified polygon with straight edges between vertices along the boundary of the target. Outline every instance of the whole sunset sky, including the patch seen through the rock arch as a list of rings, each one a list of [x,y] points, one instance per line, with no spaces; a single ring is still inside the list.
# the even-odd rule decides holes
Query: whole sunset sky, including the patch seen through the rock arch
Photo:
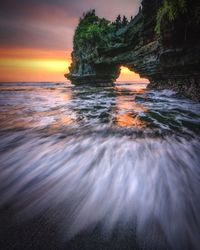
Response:
[[[135,16],[140,0],[1,0],[0,82],[65,81],[79,17]],[[143,81],[122,68],[120,81]]]

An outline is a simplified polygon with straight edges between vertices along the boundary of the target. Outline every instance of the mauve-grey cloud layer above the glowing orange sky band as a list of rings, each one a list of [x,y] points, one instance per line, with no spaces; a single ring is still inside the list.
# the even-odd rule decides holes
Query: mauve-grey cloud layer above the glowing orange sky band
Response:
[[[3,0],[0,6],[0,46],[72,49],[79,17],[95,8],[114,19],[135,15],[139,0]]]

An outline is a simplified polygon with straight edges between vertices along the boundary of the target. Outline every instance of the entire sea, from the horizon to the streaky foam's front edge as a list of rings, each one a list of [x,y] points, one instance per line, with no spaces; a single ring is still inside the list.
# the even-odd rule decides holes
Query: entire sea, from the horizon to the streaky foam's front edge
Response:
[[[200,104],[169,90],[1,83],[0,206],[66,241],[98,228],[198,250],[199,139]]]

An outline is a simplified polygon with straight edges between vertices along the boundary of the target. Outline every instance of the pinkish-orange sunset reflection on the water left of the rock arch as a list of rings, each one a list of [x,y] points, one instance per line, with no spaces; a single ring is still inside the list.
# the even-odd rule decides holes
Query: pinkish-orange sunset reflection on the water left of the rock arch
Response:
[[[1,86],[1,129],[59,128],[72,124],[71,90],[61,86]]]

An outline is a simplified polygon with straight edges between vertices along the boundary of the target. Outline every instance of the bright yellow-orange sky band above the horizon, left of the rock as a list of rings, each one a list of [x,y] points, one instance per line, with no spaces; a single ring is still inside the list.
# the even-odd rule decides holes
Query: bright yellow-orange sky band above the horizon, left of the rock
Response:
[[[64,81],[70,51],[2,48],[0,81]]]

